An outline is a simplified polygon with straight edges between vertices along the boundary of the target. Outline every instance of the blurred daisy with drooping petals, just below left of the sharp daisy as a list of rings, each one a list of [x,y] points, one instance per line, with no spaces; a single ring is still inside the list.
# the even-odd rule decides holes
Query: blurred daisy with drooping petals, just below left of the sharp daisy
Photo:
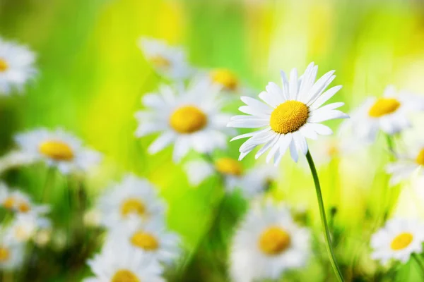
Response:
[[[213,164],[203,160],[189,161],[184,168],[191,185],[199,185],[206,178],[218,173],[223,176],[228,192],[240,188],[248,198],[266,190],[278,176],[274,166],[262,165],[245,170],[240,161],[229,157],[218,158]]]

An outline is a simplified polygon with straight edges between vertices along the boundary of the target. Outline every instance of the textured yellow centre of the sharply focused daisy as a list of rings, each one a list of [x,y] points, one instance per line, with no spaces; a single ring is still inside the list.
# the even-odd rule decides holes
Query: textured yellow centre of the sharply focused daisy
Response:
[[[270,125],[276,133],[293,133],[307,121],[309,111],[307,106],[298,101],[286,101],[271,113]]]

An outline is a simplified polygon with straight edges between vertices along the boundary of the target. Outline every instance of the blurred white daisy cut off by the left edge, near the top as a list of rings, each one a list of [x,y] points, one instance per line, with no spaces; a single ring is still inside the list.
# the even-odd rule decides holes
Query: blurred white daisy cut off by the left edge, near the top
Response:
[[[34,63],[33,51],[0,37],[0,95],[13,90],[21,92],[25,83],[37,73]]]

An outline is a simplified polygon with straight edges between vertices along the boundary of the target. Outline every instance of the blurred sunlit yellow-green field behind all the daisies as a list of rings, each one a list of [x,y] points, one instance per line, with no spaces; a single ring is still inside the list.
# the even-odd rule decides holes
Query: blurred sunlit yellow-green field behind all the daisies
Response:
[[[175,162],[175,142],[148,153],[158,134],[136,137],[134,115],[148,108],[143,95],[174,81],[155,71],[138,42],[152,37],[180,46],[200,73],[214,68],[235,73],[242,87],[220,93],[223,111],[230,116],[242,114],[237,110],[245,105],[240,96],[257,98],[269,82],[281,85],[281,70],[288,75],[298,68],[300,75],[312,61],[319,66],[317,79],[336,70],[329,88],[343,88],[331,102],[344,102],[341,111],[352,113],[367,97],[382,97],[387,85],[423,97],[423,11],[424,4],[413,0],[0,0],[0,37],[28,46],[37,56],[37,75],[23,91],[0,94],[0,155],[18,149],[16,134],[36,128],[63,128],[102,154],[102,161],[83,173],[62,173],[43,161],[0,170],[9,188],[48,204],[51,220],[48,242],[26,243],[18,268],[2,266],[0,246],[0,281],[83,281],[95,276],[86,262],[102,251],[107,232],[88,223],[87,214],[128,173],[153,183],[167,204],[166,226],[180,237],[179,256],[163,266],[165,281],[250,282],[232,275],[231,246],[245,214],[266,202],[284,203],[293,221],[307,228],[310,256],[302,268],[252,282],[337,281],[304,156],[295,163],[287,150],[276,178],[259,195],[247,198],[243,188],[225,192],[219,173],[192,185],[184,167],[199,156],[237,159],[244,140],[229,141],[251,129],[236,129],[227,136],[227,149],[206,157],[190,150]],[[390,187],[386,171],[396,161],[393,153],[408,148],[404,137],[424,140],[420,121],[423,114],[414,115],[415,128],[389,138],[379,132],[370,145],[349,135],[346,154],[331,154],[324,164],[318,147],[330,140],[308,140],[344,281],[424,281],[422,250],[418,259],[381,264],[372,259],[370,245],[372,234],[389,219],[424,219],[424,197],[411,188],[413,176]],[[343,135],[338,132],[341,122],[324,123],[334,131],[334,140]],[[242,160],[245,169],[265,163],[264,156],[255,159],[257,151]],[[15,214],[1,204],[3,230]],[[95,281],[155,282],[120,279]]]

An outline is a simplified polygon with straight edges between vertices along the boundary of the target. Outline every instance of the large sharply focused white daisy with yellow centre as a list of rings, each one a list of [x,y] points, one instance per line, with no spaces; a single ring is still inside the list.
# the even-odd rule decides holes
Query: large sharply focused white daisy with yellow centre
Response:
[[[336,110],[344,103],[332,103],[322,106],[341,89],[335,86],[324,92],[334,80],[334,71],[329,71],[315,82],[318,66],[310,63],[305,74],[298,78],[298,71],[293,68],[290,80],[281,72],[283,88],[276,83],[269,82],[266,91],[259,94],[265,103],[250,97],[241,97],[247,106],[239,108],[247,116],[234,116],[228,126],[234,128],[264,128],[232,138],[237,140],[250,137],[240,147],[240,160],[243,159],[258,145],[255,158],[259,158],[269,151],[266,161],[274,157],[274,164],[278,165],[286,149],[290,149],[291,157],[298,161],[298,152],[305,155],[308,152],[306,138],[316,139],[317,135],[331,135],[332,130],[323,121],[335,118],[348,118],[346,114]],[[323,93],[324,92],[324,93]]]

